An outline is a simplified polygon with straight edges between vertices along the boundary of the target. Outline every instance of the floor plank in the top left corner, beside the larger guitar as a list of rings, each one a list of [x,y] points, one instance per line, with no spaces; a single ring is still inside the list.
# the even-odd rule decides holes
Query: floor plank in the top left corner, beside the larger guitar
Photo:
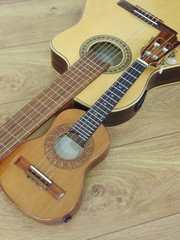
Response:
[[[80,18],[85,0],[29,0],[1,3],[0,48],[44,42]]]

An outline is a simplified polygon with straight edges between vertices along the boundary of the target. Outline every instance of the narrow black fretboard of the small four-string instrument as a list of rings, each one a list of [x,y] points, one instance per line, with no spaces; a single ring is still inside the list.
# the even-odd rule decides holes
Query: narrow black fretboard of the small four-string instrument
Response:
[[[80,120],[72,126],[70,131],[78,135],[77,142],[81,146],[84,145],[98,126],[105,120],[146,67],[147,64],[137,59],[80,118]]]

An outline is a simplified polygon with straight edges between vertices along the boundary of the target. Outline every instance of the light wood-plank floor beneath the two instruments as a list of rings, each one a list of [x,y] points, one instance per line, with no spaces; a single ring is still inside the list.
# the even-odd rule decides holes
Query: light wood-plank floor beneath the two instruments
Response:
[[[85,2],[0,0],[0,124],[56,79],[50,39],[79,20]],[[109,133],[109,155],[87,175],[71,222],[38,223],[0,190],[0,239],[179,240],[180,84],[149,92]]]

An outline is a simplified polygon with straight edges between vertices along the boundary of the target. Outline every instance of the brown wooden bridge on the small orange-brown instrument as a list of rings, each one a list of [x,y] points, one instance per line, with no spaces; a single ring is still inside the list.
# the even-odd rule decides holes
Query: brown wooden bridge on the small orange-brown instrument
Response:
[[[64,196],[65,192],[58,185],[31,165],[24,157],[21,156],[15,164],[26,173],[28,178],[31,178],[35,182],[36,186],[46,190],[56,200],[60,200]]]

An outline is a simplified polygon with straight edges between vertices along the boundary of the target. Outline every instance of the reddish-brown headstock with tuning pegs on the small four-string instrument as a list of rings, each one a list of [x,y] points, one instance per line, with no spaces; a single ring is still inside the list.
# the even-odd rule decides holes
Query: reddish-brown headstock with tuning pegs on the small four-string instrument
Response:
[[[157,66],[162,59],[173,51],[180,42],[175,34],[160,32],[141,52],[141,59],[147,64]]]

